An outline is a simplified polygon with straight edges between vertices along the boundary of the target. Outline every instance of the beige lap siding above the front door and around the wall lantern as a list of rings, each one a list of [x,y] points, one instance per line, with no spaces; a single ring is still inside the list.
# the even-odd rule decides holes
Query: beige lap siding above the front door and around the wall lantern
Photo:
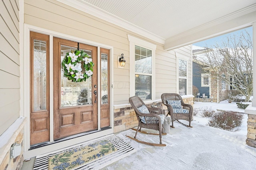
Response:
[[[84,9],[86,11],[86,9]],[[54,0],[24,0],[24,22],[52,31],[81,37],[114,47],[114,104],[127,104],[130,97],[129,41],[127,34],[156,44],[156,98],[161,93],[176,92],[176,58],[174,51],[122,27],[86,14]],[[183,49],[188,51],[189,48]],[[118,57],[124,53],[126,65],[118,68]]]

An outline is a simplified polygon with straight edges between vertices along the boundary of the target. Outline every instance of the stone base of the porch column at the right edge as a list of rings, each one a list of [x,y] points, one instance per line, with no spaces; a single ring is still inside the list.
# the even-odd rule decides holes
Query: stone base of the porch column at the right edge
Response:
[[[248,114],[246,144],[256,148],[256,115]]]

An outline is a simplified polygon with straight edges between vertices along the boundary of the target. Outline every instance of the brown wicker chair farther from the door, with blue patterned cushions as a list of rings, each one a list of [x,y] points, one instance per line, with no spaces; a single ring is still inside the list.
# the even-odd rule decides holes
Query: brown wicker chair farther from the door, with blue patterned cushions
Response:
[[[172,125],[170,127],[174,128],[173,122],[178,121],[180,119],[186,120],[189,122],[189,125],[185,125],[184,123],[181,123],[184,126],[192,127],[191,121],[192,121],[192,115],[193,115],[193,107],[190,104],[185,104],[182,100],[182,97],[179,94],[176,93],[164,93],[161,95],[162,102],[165,106],[167,106],[168,114],[172,118]],[[168,100],[168,101],[167,101]],[[180,100],[181,108],[177,109],[174,107],[174,104],[171,104],[170,102],[176,102]],[[174,107],[174,108],[173,108]]]

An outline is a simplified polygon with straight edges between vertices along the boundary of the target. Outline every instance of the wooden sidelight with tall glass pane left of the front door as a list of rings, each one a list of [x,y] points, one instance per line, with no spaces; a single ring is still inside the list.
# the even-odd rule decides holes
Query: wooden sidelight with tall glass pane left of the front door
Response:
[[[48,142],[49,35],[30,32],[30,145]]]

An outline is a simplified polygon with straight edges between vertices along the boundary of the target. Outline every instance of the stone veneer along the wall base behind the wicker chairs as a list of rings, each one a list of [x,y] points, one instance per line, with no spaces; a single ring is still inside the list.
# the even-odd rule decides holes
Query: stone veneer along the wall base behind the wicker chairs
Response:
[[[193,96],[184,97],[184,103],[191,104],[193,106]],[[162,100],[156,100],[150,103],[146,103],[146,106],[151,107],[154,102],[157,103],[157,107],[164,109],[164,113],[167,114],[167,107],[162,104]],[[130,104],[128,105],[119,105],[114,106],[114,133],[125,131],[131,129],[133,127],[138,126],[138,120],[136,117],[136,113]]]

